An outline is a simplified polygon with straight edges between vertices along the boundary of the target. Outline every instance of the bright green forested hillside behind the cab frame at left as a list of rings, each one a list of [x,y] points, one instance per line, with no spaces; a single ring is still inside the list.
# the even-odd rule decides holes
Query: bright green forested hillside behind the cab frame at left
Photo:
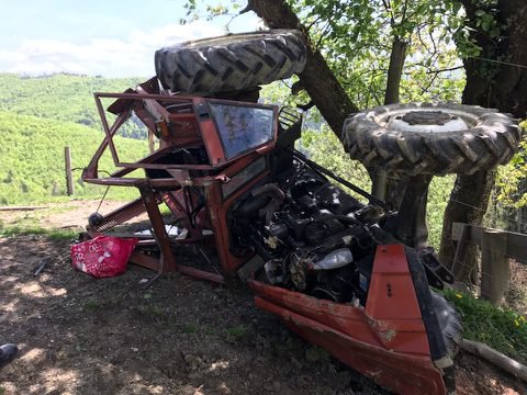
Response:
[[[71,148],[76,196],[99,198],[102,187],[83,184],[80,168],[88,165],[103,138],[93,92],[122,92],[139,79],[56,75],[23,78],[0,74],[0,205],[45,202],[65,195],[64,147]],[[133,125],[127,132],[133,129]],[[127,134],[132,137],[131,134]],[[138,136],[134,136],[138,137]],[[117,137],[128,158],[147,154],[147,145]],[[103,157],[100,170],[111,171]],[[132,191],[133,192],[133,191]],[[130,198],[114,188],[110,196]]]

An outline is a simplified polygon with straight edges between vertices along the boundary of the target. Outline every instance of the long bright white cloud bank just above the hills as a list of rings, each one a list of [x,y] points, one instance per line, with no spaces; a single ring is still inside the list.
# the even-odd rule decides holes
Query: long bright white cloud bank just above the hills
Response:
[[[169,24],[148,32],[132,31],[126,40],[94,38],[77,45],[64,40],[29,40],[14,50],[0,50],[0,70],[43,75],[76,72],[104,77],[155,74],[154,53],[164,46],[223,34],[210,22]]]

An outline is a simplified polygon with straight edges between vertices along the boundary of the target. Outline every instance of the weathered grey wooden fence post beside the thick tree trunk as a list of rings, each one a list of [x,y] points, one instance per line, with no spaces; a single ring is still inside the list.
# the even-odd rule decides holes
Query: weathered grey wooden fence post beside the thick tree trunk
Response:
[[[481,297],[495,306],[502,303],[511,273],[507,233],[484,229],[481,234]]]

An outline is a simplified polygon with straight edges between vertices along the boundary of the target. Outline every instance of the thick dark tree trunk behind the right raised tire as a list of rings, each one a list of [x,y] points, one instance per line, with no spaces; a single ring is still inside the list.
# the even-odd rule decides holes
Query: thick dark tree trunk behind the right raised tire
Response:
[[[507,26],[500,37],[491,38],[478,24],[479,11],[473,0],[461,0],[467,12],[467,25],[471,38],[482,48],[478,57],[463,59],[467,86],[463,103],[496,108],[525,117],[527,112],[527,2],[525,0],[498,1],[495,18],[498,25]],[[504,61],[506,64],[504,64]],[[513,65],[509,65],[513,64]],[[516,66],[515,66],[516,65]],[[494,171],[473,176],[458,176],[445,211],[441,248],[439,257],[447,267],[451,266],[455,248],[451,239],[452,222],[481,224],[489,196],[494,187]],[[469,253],[466,264],[475,266],[474,251]]]

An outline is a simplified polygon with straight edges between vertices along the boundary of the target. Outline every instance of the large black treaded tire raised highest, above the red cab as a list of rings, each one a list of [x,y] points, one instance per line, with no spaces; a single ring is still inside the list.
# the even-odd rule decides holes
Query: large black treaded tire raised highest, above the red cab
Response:
[[[243,91],[302,72],[306,46],[295,30],[187,42],[156,52],[156,74],[172,92]]]

